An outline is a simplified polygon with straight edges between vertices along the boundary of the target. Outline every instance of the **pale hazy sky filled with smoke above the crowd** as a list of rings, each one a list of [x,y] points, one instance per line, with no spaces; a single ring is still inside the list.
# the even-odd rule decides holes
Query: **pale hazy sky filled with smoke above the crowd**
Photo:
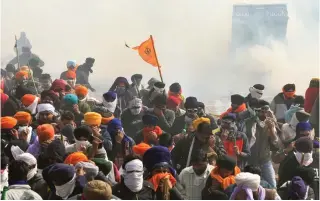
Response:
[[[237,58],[227,54],[234,3],[288,3],[288,45],[252,47]],[[44,71],[58,77],[67,60],[83,63],[94,57],[93,86],[103,92],[117,76],[144,75],[146,83],[158,71],[125,41],[139,45],[154,36],[164,81],[180,82],[186,95],[206,103],[261,82],[267,96],[288,82],[303,93],[317,77],[319,2],[228,0],[2,0],[1,56],[14,56],[14,35],[21,31],[32,51],[46,63]],[[232,61],[232,62],[230,62]],[[230,66],[232,63],[232,66]],[[235,71],[230,69],[236,69]],[[243,71],[242,74],[237,72]]]

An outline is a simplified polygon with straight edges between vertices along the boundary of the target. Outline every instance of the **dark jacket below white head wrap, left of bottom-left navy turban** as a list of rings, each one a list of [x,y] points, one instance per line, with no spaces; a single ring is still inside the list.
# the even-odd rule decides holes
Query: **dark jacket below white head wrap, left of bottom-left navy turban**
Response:
[[[43,200],[47,200],[49,196],[47,182],[42,178],[41,174],[36,174],[28,181],[31,190],[38,193]]]

